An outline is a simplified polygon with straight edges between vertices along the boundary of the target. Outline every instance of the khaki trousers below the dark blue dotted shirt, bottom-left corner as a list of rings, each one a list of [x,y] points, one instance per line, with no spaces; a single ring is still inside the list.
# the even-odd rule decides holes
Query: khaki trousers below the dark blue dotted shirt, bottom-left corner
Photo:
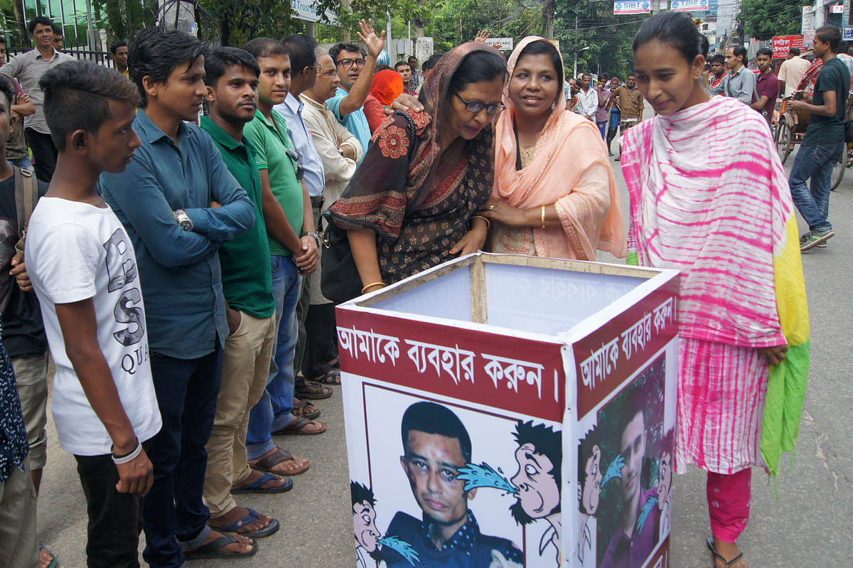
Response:
[[[36,544],[36,488],[26,472],[12,466],[9,478],[0,483],[0,566],[38,568]]]

